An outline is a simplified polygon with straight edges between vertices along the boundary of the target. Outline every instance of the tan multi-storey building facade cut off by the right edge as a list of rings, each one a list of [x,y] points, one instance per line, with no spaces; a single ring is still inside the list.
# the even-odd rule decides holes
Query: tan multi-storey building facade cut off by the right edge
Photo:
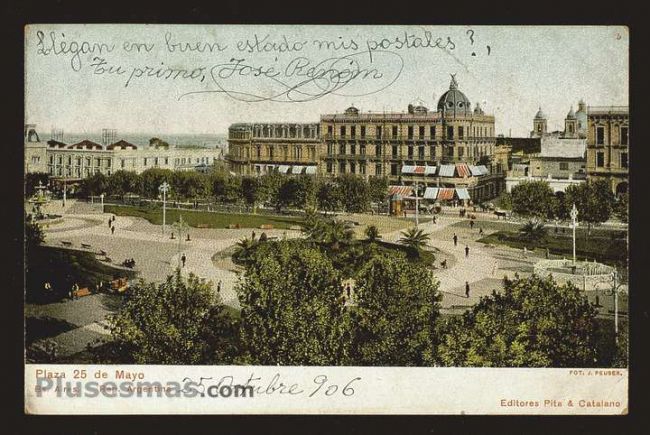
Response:
[[[587,125],[587,178],[607,180],[617,195],[627,193],[629,108],[589,107]]]

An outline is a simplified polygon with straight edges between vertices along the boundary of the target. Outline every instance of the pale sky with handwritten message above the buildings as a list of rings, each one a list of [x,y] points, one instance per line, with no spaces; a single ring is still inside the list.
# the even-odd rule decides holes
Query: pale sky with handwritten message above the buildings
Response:
[[[333,45],[319,48],[325,40]],[[25,120],[46,137],[225,134],[236,122],[318,122],[350,105],[435,110],[454,74],[497,134],[522,137],[539,107],[559,130],[581,98],[628,105],[628,46],[622,26],[33,25]],[[338,75],[315,77],[318,68]]]

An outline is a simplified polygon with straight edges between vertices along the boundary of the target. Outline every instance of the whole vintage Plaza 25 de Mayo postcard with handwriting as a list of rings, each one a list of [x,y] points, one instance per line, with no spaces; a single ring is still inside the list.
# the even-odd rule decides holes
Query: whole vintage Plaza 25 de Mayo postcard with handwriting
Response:
[[[26,413],[628,412],[627,27],[24,36]]]

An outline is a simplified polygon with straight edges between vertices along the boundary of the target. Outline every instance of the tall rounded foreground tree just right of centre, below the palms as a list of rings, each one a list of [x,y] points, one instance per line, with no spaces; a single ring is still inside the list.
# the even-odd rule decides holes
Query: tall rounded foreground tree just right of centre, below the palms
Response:
[[[438,282],[403,255],[378,255],[359,272],[350,313],[351,364],[422,366],[434,359]]]

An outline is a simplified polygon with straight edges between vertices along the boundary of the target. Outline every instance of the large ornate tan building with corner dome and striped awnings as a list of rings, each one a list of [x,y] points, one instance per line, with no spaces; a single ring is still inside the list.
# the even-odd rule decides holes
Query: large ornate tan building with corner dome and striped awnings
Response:
[[[494,116],[478,104],[472,108],[453,76],[437,110],[409,105],[406,112],[361,112],[352,106],[321,115],[320,124],[233,124],[228,142],[228,161],[238,174],[387,176],[396,186],[446,188],[456,190],[456,199],[475,201],[498,195],[503,184],[491,164]]]

